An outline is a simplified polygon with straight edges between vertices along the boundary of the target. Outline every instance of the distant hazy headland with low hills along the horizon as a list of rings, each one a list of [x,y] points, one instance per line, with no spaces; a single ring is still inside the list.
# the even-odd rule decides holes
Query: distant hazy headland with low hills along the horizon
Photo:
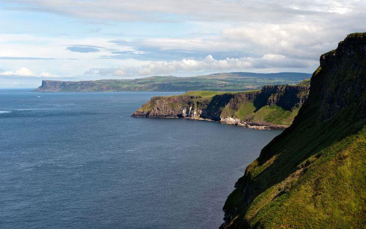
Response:
[[[217,73],[194,77],[152,76],[141,79],[106,79],[95,81],[43,80],[37,92],[122,92],[122,91],[247,91],[269,84],[297,84],[308,73]]]

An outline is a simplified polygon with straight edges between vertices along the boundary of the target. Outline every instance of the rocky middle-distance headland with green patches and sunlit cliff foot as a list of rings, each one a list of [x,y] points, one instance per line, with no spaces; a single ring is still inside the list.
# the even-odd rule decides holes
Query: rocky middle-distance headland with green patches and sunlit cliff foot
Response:
[[[286,128],[309,94],[307,86],[264,86],[247,92],[193,91],[153,97],[134,117],[212,119],[253,128]]]

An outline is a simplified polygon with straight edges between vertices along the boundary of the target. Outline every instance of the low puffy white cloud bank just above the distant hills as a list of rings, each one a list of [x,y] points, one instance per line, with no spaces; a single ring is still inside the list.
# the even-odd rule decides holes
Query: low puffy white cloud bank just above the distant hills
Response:
[[[159,75],[174,72],[202,72],[213,70],[244,70],[248,68],[305,68],[314,63],[303,60],[289,59],[282,55],[265,54],[259,58],[225,58],[216,60],[211,55],[202,61],[183,59],[182,61],[154,61],[140,66],[119,66],[118,68],[90,69],[85,74],[116,75],[116,76],[138,76],[138,75]]]

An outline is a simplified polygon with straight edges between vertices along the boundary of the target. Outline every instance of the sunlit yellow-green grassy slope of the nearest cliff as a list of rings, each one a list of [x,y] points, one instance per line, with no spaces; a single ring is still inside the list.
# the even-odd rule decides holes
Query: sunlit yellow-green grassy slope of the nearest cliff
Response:
[[[275,198],[284,183],[256,197],[246,216],[255,217],[251,226],[363,228],[366,180],[360,171],[366,166],[365,152],[366,128],[324,148],[312,157],[305,175],[294,176],[287,182],[288,190],[276,201],[268,202],[268,199]]]

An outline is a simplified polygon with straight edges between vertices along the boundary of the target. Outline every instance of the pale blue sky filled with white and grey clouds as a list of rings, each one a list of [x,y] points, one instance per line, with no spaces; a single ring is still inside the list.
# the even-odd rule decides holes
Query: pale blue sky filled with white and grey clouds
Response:
[[[42,79],[313,72],[366,0],[0,0],[0,88]]]

